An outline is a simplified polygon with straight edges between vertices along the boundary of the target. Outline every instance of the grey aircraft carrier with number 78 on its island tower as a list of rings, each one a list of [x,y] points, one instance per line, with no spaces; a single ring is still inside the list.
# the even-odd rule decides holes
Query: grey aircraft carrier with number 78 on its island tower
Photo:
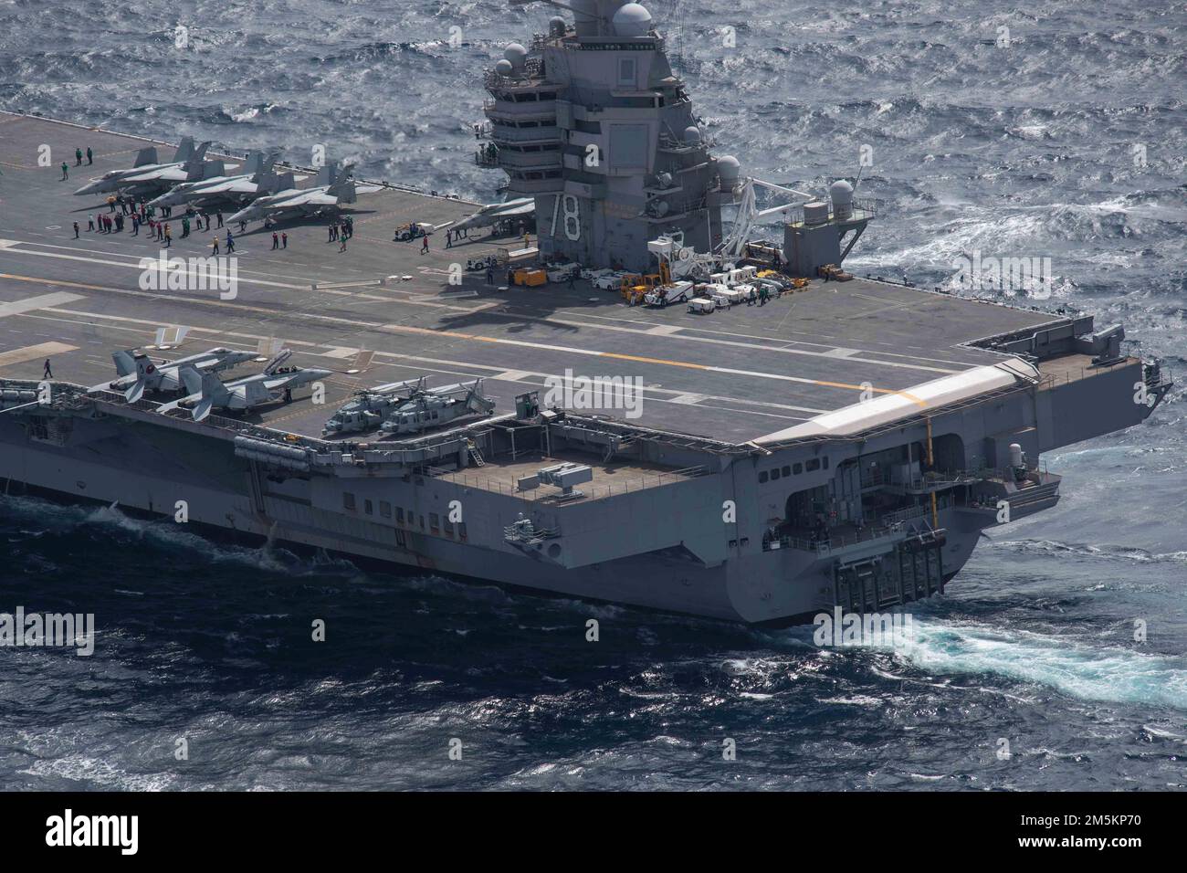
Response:
[[[325,215],[281,217],[275,249],[254,222],[236,240],[233,297],[145,287],[142,259],[161,243],[147,228],[88,230],[108,207],[72,191],[148,144],[0,114],[4,492],[418,572],[794,622],[942,592],[983,530],[1059,500],[1042,453],[1136,425],[1168,390],[1091,315],[846,274],[876,213],[846,184],[785,210],[781,239],[738,239],[723,210],[745,208],[754,184],[716,154],[649,14],[612,0],[573,10],[483,78],[475,159],[534,201],[527,246],[471,233],[446,248],[438,229],[421,252],[395,229],[451,227],[478,204],[375,183],[347,207],[347,251]],[[94,165],[76,166],[87,147]],[[169,257],[210,254],[217,228],[180,238],[172,223]],[[723,271],[729,254],[788,291],[705,315],[627,305],[589,279],[508,285],[503,266],[567,259],[668,280],[665,253],[668,268],[717,253]],[[497,270],[457,281],[455,265],[488,257]],[[160,366],[211,348],[287,349],[328,375],[201,416],[177,393],[108,387],[115,350]],[[325,434],[356,392],[425,377],[481,379],[494,411]],[[611,399],[637,385],[639,403],[590,409],[583,386],[599,378],[617,380]]]

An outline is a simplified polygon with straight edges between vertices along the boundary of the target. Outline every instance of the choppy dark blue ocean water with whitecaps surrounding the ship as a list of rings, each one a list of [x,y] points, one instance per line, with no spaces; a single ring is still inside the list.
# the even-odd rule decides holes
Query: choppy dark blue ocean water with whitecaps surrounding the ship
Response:
[[[1182,4],[652,12],[717,153],[745,172],[821,190],[870,146],[859,196],[881,216],[855,270],[942,285],[975,252],[1050,258],[1054,295],[1034,305],[1122,322],[1130,352],[1187,378]],[[499,176],[470,163],[469,135],[481,70],[550,14],[493,0],[0,0],[0,107],[283,144],[298,163],[324,144],[366,177],[485,201]],[[1047,455],[1065,475],[1059,506],[994,531],[893,651],[2,498],[0,611],[90,612],[99,634],[90,658],[0,649],[0,787],[1181,789],[1182,398]]]

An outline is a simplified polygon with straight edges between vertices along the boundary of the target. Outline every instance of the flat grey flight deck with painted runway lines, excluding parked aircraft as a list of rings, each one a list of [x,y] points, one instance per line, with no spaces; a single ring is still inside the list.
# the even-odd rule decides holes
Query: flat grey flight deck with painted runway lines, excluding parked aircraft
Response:
[[[39,148],[50,147],[50,166]],[[103,196],[72,191],[104,171],[131,165],[142,140],[0,114],[0,378],[38,379],[51,362],[53,378],[78,385],[112,380],[114,349],[147,348],[160,328],[185,328],[178,348],[150,353],[176,358],[214,346],[287,347],[293,362],[334,371],[324,405],[307,390],[290,404],[253,410],[246,420],[319,437],[332,410],[354,391],[429,377],[430,387],[482,378],[513,412],[515,397],[539,391],[547,403],[551,378],[639,378],[642,403],[584,409],[661,431],[744,443],[875,393],[909,391],[921,382],[1003,360],[969,343],[1061,316],[886,281],[813,279],[804,291],[766,305],[740,305],[693,315],[683,305],[628,306],[617,291],[573,287],[507,287],[506,271],[488,284],[466,272],[450,284],[453,264],[501,248],[518,238],[487,230],[445,248],[443,233],[396,242],[410,221],[440,224],[471,214],[476,204],[405,186],[360,195],[349,210],[355,234],[339,252],[328,240],[328,219],[281,221],[287,248],[272,249],[259,222],[236,238],[239,280],[234,299],[215,290],[145,290],[142,258],[160,245],[126,226],[122,233],[88,232],[88,217],[108,209]],[[76,147],[94,150],[93,166],[75,166]],[[172,147],[159,148],[167,159]],[[69,181],[61,181],[61,164]],[[312,184],[309,179],[301,184]],[[227,210],[224,215],[229,215]],[[180,215],[170,220],[171,258],[204,258],[217,230],[180,238]],[[82,228],[74,239],[71,223]],[[547,221],[547,219],[544,219]],[[360,354],[362,353],[362,354]],[[361,366],[356,366],[361,365]],[[348,373],[358,369],[356,373]],[[233,379],[258,372],[245,365]],[[362,436],[362,435],[360,435]]]

